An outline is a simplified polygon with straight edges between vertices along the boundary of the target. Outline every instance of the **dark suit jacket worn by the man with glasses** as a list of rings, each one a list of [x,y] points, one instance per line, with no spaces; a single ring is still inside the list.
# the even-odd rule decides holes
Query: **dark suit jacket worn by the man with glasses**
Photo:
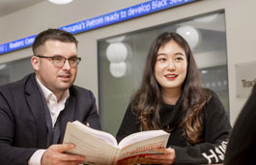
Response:
[[[38,149],[46,149],[47,126],[45,98],[41,95],[35,73],[0,87],[0,164],[27,164]],[[66,124],[89,123],[100,129],[96,100],[92,92],[71,86],[69,107],[62,111],[60,142]]]

